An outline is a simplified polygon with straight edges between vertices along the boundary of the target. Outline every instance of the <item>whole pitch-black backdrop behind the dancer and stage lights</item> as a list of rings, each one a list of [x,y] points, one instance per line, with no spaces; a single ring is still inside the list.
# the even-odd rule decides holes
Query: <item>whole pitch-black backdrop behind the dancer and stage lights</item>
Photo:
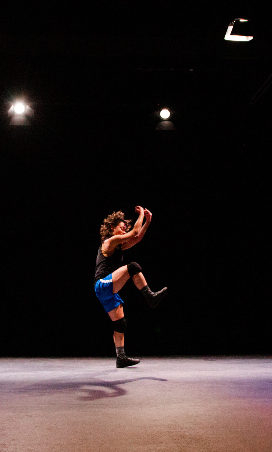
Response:
[[[169,294],[150,311],[122,289],[127,353],[270,354],[271,86],[250,102],[272,72],[270,15],[130,3],[0,23],[0,353],[115,355],[93,289],[99,226],[140,204],[152,223],[124,261]],[[244,14],[253,41],[224,41]],[[9,125],[16,97],[30,127]],[[155,130],[161,106],[176,130]]]

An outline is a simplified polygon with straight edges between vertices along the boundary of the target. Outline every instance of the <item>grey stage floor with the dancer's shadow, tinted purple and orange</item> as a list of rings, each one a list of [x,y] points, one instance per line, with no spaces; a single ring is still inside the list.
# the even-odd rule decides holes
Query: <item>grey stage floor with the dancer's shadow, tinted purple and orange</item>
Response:
[[[270,358],[0,359],[1,452],[271,452]]]

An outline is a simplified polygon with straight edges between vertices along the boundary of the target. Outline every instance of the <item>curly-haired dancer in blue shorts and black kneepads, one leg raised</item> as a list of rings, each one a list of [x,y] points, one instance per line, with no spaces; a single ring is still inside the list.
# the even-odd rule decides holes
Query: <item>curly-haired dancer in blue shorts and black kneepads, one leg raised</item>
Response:
[[[135,207],[139,217],[131,229],[131,220],[125,220],[123,212],[113,212],[104,219],[100,228],[101,245],[98,250],[94,277],[94,290],[103,307],[113,321],[113,340],[116,348],[116,367],[133,366],[139,359],[127,358],[124,352],[124,333],[127,322],[124,317],[122,299],[118,291],[129,278],[146,298],[149,306],[155,308],[166,295],[167,287],[159,292],[151,292],[142,269],[136,262],[122,265],[122,251],[139,243],[150,225],[152,214],[143,207]],[[145,218],[145,224],[143,220]]]

